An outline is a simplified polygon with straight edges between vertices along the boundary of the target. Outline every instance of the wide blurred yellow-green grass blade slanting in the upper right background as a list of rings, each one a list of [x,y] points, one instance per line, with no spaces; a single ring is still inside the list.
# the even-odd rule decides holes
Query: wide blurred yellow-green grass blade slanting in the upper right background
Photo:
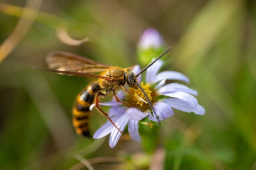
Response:
[[[174,47],[177,68],[192,70],[206,56],[216,38],[238,11],[242,1],[212,0],[198,12],[190,27]],[[184,64],[189,63],[189,64]]]

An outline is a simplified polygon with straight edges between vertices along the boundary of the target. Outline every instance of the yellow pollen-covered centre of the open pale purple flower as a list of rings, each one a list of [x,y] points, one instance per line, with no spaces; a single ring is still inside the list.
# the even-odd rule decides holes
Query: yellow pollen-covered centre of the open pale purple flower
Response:
[[[150,84],[144,84],[143,82],[140,84],[143,90],[146,92],[150,101],[152,101],[152,90],[150,89]],[[131,92],[134,95],[131,96],[129,103],[134,107],[148,107],[148,102],[143,92],[139,88],[131,88]],[[139,105],[139,106],[138,106]],[[140,108],[141,109],[141,108]]]

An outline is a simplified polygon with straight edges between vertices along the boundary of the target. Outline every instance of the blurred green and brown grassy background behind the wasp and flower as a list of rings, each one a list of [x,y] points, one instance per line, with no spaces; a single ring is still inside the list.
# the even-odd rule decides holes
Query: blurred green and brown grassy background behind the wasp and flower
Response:
[[[13,35],[24,6],[39,12]],[[90,41],[65,45],[56,37],[58,27]],[[141,143],[124,134],[114,149],[108,137],[76,136],[72,105],[94,79],[32,66],[46,68],[51,51],[114,66],[139,64],[137,45],[147,27],[172,46],[164,70],[190,78],[206,115],[175,111],[160,128],[140,126]],[[254,0],[1,0],[0,43],[1,60],[10,47],[0,63],[2,170],[87,169],[86,160],[94,169],[256,170]],[[94,113],[93,132],[106,121]]]

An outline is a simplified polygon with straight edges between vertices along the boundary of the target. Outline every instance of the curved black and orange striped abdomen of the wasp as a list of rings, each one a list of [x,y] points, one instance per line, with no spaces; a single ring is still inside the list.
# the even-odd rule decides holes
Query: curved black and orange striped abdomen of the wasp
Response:
[[[73,125],[78,135],[91,137],[89,129],[89,119],[91,111],[89,107],[94,102],[94,96],[101,90],[98,83],[92,83],[87,86],[76,98],[73,107]]]

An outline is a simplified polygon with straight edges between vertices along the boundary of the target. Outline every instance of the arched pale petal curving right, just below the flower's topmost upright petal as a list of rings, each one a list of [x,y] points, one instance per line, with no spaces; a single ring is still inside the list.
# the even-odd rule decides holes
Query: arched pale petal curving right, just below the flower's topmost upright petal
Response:
[[[164,79],[166,79],[166,80],[181,80],[186,83],[190,82],[188,77],[180,72],[163,71],[153,77],[153,83],[160,82],[161,80],[164,80]]]

